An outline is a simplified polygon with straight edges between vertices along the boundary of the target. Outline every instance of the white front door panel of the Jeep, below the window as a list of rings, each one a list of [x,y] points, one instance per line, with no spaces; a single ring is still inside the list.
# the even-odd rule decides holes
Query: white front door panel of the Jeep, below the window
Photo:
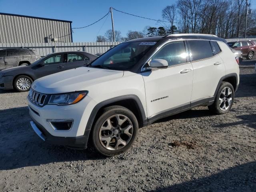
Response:
[[[186,69],[190,71],[181,73]],[[185,104],[190,105],[193,80],[191,63],[143,72],[142,77],[145,83],[149,118],[164,110]]]

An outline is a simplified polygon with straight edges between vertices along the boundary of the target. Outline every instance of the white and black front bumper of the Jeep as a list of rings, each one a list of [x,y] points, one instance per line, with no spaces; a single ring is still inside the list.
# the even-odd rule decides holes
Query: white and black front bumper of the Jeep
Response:
[[[29,114],[33,122],[31,126],[38,136],[46,142],[70,146],[73,148],[86,148],[90,134],[90,128],[86,125],[96,102],[89,96],[74,105],[36,106],[28,100]],[[69,130],[56,130],[48,120],[74,120]]]

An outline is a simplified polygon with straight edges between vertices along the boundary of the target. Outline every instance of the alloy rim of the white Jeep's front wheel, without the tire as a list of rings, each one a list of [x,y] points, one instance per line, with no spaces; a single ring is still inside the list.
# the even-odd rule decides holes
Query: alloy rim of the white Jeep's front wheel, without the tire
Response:
[[[119,150],[131,140],[133,126],[131,120],[121,114],[109,117],[100,127],[99,139],[108,150]]]

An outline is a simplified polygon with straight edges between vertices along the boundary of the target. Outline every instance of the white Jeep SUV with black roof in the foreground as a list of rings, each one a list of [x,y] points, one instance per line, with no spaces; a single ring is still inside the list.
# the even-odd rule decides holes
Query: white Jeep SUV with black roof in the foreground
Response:
[[[149,37],[119,44],[91,64],[40,78],[28,95],[32,128],[44,141],[90,143],[106,156],[128,150],[138,128],[208,106],[224,114],[239,84],[237,60],[222,38]]]

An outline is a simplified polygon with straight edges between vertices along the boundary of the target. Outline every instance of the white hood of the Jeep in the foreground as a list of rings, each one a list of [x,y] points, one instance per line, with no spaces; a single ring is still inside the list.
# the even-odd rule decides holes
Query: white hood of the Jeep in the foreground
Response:
[[[88,86],[121,78],[124,71],[79,67],[42,77],[32,88],[45,94],[57,94],[86,90]]]

